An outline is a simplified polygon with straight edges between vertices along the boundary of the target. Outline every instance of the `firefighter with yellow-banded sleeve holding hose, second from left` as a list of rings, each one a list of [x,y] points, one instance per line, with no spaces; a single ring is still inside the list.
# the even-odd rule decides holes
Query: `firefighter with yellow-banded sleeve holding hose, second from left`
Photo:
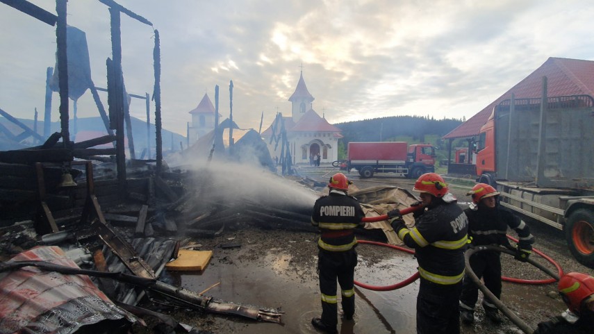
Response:
[[[420,192],[419,204],[424,206],[413,213],[415,227],[406,228],[398,210],[388,217],[398,237],[415,249],[418,261],[417,333],[459,334],[468,220],[438,174],[420,176],[413,191]]]

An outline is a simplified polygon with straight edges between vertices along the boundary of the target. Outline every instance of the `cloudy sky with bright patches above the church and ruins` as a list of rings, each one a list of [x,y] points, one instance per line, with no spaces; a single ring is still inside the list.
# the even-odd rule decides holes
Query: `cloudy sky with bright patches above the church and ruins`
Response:
[[[51,0],[29,0],[56,14]],[[594,60],[591,0],[116,0],[153,26],[121,16],[130,94],[152,96],[160,36],[163,128],[186,134],[204,94],[233,121],[262,131],[303,72],[313,109],[331,124],[415,115],[469,119],[549,57]],[[99,0],[70,0],[67,24],[85,32],[91,75],[106,87],[110,15]],[[0,3],[0,109],[43,118],[56,28]],[[107,94],[99,92],[107,108]],[[59,120],[53,94],[51,120]],[[154,101],[151,101],[154,122]],[[70,117],[73,102],[70,101]],[[78,117],[99,115],[90,91]],[[145,101],[131,115],[146,120]]]

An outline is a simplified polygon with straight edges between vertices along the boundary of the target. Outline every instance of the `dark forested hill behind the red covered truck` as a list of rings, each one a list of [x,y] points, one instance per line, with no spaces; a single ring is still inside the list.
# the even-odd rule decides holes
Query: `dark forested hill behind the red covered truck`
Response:
[[[393,142],[397,138],[411,137],[414,142],[425,142],[425,137],[443,137],[456,126],[459,119],[433,119],[418,116],[393,116],[363,121],[333,124],[343,131],[346,142]]]

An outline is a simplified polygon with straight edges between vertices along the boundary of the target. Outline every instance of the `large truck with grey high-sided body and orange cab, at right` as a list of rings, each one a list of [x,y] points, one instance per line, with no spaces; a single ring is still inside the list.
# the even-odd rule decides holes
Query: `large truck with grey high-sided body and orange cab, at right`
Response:
[[[527,222],[564,231],[572,255],[594,268],[594,99],[589,95],[502,101],[482,126],[477,181]]]

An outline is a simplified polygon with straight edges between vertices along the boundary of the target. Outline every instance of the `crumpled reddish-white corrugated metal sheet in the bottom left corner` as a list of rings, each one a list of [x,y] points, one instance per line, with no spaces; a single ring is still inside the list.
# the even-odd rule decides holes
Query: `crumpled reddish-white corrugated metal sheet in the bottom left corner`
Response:
[[[60,247],[36,247],[12,261],[44,260],[79,268]],[[0,333],[74,333],[79,328],[136,318],[115,306],[85,275],[63,275],[24,267],[0,274]],[[105,329],[110,322],[103,323]]]

